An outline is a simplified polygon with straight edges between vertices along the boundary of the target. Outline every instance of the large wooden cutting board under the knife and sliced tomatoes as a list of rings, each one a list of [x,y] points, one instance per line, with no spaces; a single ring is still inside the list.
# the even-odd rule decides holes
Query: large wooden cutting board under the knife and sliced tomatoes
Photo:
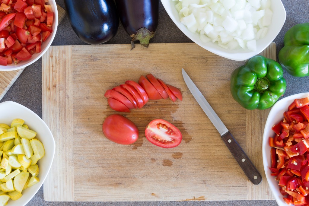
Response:
[[[263,55],[276,58],[272,43]],[[52,46],[42,60],[43,120],[56,141],[44,182],[46,201],[179,201],[273,199],[262,166],[262,136],[269,110],[248,111],[230,94],[232,61],[194,43]],[[263,176],[253,185],[189,92],[184,68]],[[153,74],[180,88],[183,101],[149,101],[131,113],[113,111],[108,89]],[[106,139],[102,122],[118,113],[139,128],[133,145]],[[180,129],[179,146],[163,149],[147,141],[154,119]]]

